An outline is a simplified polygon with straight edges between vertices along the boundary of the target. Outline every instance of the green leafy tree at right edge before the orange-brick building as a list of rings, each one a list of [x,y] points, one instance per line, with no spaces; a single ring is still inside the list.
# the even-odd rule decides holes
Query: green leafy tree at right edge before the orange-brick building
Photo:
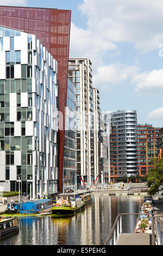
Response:
[[[159,186],[163,185],[163,157],[153,158],[151,164],[154,166],[147,175],[147,185],[150,187],[148,193],[152,195],[159,192]]]

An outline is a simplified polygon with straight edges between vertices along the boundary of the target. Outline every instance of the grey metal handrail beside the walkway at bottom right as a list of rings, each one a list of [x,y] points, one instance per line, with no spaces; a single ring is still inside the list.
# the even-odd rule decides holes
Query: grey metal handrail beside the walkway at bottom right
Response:
[[[116,217],[116,220],[115,220],[115,222],[114,222],[114,224],[113,224],[113,226],[112,226],[112,228],[111,228],[111,230],[110,230],[109,236],[108,236],[108,238],[107,238],[107,239],[105,240],[105,242],[104,242],[104,245],[107,245],[108,242],[109,242],[109,240],[111,239],[112,235],[114,235],[114,231],[115,231],[116,224],[117,224],[117,222],[118,222],[118,219],[119,219],[122,215],[140,215],[140,213],[139,213],[139,214],[118,214],[117,217]],[[150,215],[153,215],[153,216],[152,216],[152,245],[155,245],[154,220],[153,220],[153,219],[154,219],[154,216],[155,216],[155,215],[161,215],[161,216],[163,216],[163,214],[150,214]]]

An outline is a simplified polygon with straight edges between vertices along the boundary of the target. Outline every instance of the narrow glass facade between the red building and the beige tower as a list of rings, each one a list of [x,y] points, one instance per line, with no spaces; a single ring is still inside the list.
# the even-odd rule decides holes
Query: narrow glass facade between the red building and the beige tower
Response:
[[[76,87],[68,78],[64,146],[63,191],[77,190]]]

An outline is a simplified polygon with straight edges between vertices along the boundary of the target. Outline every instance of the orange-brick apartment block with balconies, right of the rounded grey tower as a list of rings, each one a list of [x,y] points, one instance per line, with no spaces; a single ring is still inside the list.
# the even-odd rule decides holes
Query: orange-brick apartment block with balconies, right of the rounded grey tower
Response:
[[[152,168],[150,164],[152,157],[159,156],[161,137],[160,128],[155,128],[150,124],[137,125],[139,175],[148,174],[148,170]]]

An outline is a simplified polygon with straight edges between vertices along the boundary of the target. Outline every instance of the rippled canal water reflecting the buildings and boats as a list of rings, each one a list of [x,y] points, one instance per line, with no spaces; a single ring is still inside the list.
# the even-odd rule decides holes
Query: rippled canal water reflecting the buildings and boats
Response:
[[[20,232],[0,241],[0,245],[103,245],[120,213],[138,213],[141,196],[92,196],[92,204],[72,217],[52,215],[18,218]],[[129,216],[126,228],[134,229]],[[128,230],[126,230],[128,231]]]

